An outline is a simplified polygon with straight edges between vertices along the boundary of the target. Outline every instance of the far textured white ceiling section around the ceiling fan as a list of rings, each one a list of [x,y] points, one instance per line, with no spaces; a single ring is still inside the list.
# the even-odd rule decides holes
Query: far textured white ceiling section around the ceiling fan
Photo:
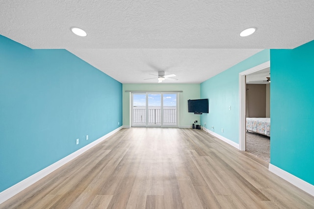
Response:
[[[259,49],[73,49],[81,59],[93,63],[121,83],[156,83],[149,74],[176,74],[164,83],[201,83]],[[114,69],[114,70],[111,70]]]

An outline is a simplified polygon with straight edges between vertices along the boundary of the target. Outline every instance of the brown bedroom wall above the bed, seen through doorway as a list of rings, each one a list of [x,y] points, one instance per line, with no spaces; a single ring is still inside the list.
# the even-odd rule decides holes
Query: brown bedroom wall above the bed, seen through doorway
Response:
[[[246,85],[246,116],[266,117],[266,85]]]

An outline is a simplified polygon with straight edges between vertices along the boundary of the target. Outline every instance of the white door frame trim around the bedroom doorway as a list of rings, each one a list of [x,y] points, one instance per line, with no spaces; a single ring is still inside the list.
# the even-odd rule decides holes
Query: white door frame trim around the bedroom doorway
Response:
[[[246,134],[246,75],[270,67],[270,61],[264,62],[258,66],[244,70],[239,73],[239,150],[245,151]]]

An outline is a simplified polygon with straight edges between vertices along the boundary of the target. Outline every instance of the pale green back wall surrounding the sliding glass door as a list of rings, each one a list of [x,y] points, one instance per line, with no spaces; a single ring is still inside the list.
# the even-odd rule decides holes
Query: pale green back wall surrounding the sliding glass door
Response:
[[[179,93],[179,128],[190,128],[195,120],[200,121],[200,115],[187,112],[187,100],[200,98],[200,84],[123,84],[123,126],[131,126],[131,93],[126,91],[183,91]]]

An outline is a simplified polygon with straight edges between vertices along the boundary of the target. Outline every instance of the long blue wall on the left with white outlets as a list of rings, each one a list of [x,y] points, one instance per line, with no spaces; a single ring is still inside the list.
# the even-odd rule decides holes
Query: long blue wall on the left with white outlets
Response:
[[[67,50],[0,36],[0,191],[121,125],[121,83]]]

